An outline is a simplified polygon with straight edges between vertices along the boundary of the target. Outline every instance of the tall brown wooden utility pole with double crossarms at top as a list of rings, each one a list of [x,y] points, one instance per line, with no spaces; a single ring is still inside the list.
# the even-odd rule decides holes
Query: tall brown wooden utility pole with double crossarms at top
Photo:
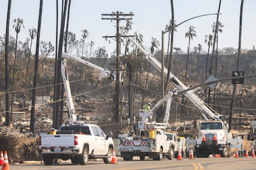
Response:
[[[102,20],[116,20],[116,36],[103,36],[103,38],[116,38],[116,94],[115,94],[115,115],[114,118],[116,122],[119,122],[119,104],[120,104],[120,34],[119,34],[119,21],[120,20],[131,20],[132,12],[130,14],[123,14],[122,12],[117,11],[116,13],[112,12],[112,14],[101,14]],[[108,16],[108,18],[103,18]],[[122,17],[122,18],[120,18]],[[127,18],[130,17],[130,18]]]

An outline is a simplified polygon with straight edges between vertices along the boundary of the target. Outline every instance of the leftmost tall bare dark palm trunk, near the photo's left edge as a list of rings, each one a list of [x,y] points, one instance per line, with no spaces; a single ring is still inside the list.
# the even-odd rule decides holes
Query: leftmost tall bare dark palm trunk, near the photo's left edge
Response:
[[[10,14],[11,14],[12,0],[8,1],[7,19],[6,19],[6,52],[5,52],[5,73],[6,73],[6,126],[10,126],[11,115],[10,115],[10,100],[9,100],[9,26],[10,26]]]

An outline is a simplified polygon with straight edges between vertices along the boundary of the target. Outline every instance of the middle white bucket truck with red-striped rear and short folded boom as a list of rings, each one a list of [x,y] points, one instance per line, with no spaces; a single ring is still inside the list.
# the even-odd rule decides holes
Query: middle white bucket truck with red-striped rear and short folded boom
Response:
[[[176,94],[176,90],[169,91],[155,107],[151,110],[139,110],[135,129],[130,134],[119,134],[119,151],[124,161],[132,160],[133,156],[140,156],[140,160],[144,160],[145,156],[153,158],[153,160],[162,160],[164,157],[172,160],[174,154],[181,146],[178,143],[184,143],[184,140],[177,141],[167,136],[166,129],[169,127],[169,109],[171,107],[171,98]],[[167,100],[167,102],[166,102]],[[163,123],[153,121],[153,111],[166,102],[166,111]],[[186,145],[182,145],[186,146]],[[184,148],[186,150],[186,148]]]

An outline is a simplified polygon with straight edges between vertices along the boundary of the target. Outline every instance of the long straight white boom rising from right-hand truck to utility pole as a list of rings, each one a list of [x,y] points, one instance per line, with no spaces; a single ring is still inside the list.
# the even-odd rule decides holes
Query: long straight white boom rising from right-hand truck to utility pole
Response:
[[[127,36],[126,30],[122,29],[121,34],[124,36]],[[146,59],[152,65],[154,65],[156,69],[158,69],[161,72],[161,67],[162,67],[161,63],[152,54],[145,51],[145,49],[143,49],[143,47],[140,46],[140,44],[134,41],[134,39],[130,38],[130,36],[127,36],[127,38],[135,46],[137,46],[140,49],[140,51],[142,51],[142,53],[146,55]],[[168,69],[166,67],[164,67],[164,75],[165,76],[168,75]],[[177,79],[176,76],[174,76],[173,73],[171,72],[169,73],[169,80],[174,84],[174,86],[177,87],[177,89],[179,89],[179,91],[184,91],[188,89],[187,86],[183,84],[179,79]],[[203,102],[202,99],[200,99],[197,95],[195,95],[193,91],[187,91],[185,95],[201,111],[203,118],[205,118],[206,120],[208,119],[220,120],[222,118],[222,116],[216,113],[216,111],[214,111],[213,109],[211,109],[207,105],[207,103]]]

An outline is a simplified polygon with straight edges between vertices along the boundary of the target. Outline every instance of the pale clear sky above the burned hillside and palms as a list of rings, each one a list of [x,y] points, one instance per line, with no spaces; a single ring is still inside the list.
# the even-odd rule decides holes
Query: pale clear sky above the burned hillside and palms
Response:
[[[215,14],[218,12],[218,0],[173,0],[174,2],[174,20],[176,24],[185,20],[205,14]],[[0,0],[0,36],[6,33],[8,0]],[[12,0],[10,34],[15,37],[13,28],[14,19],[22,18],[24,28],[19,33],[18,40],[25,41],[29,38],[28,30],[37,29],[38,14],[40,0]],[[61,1],[59,1],[59,9],[61,9]],[[219,34],[218,47],[234,47],[238,48],[239,38],[239,15],[241,0],[222,0],[220,8],[219,21],[223,24],[223,33]],[[244,0],[244,10],[242,18],[242,49],[253,49],[256,45],[256,1]],[[171,3],[170,0],[72,0],[70,8],[69,31],[76,34],[76,38],[82,38],[82,30],[88,30],[88,38],[86,42],[95,42],[93,50],[98,47],[106,47],[110,54],[116,49],[116,41],[114,39],[103,38],[103,36],[114,36],[116,34],[115,20],[102,20],[101,14],[111,14],[112,12],[123,12],[129,14],[133,12],[132,30],[129,34],[135,32],[143,35],[143,46],[150,48],[151,38],[156,38],[161,44],[161,31],[168,25],[171,19]],[[60,14],[59,14],[60,16]],[[189,26],[195,27],[197,37],[190,42],[190,51],[198,44],[202,44],[203,51],[207,51],[205,44],[205,35],[212,34],[212,24],[216,22],[217,15],[208,15],[204,17],[194,18],[188,22],[182,23],[174,32],[174,47],[179,47],[182,51],[186,51],[189,39],[185,37],[185,33],[189,30]],[[121,20],[120,26],[124,26],[126,22]],[[43,17],[41,21],[41,41],[51,41],[55,44],[56,34],[56,1],[43,1]],[[164,34],[164,49],[167,49],[168,34]],[[35,46],[35,42],[33,44]],[[161,49],[161,47],[159,47]],[[124,53],[123,51],[121,51]]]

